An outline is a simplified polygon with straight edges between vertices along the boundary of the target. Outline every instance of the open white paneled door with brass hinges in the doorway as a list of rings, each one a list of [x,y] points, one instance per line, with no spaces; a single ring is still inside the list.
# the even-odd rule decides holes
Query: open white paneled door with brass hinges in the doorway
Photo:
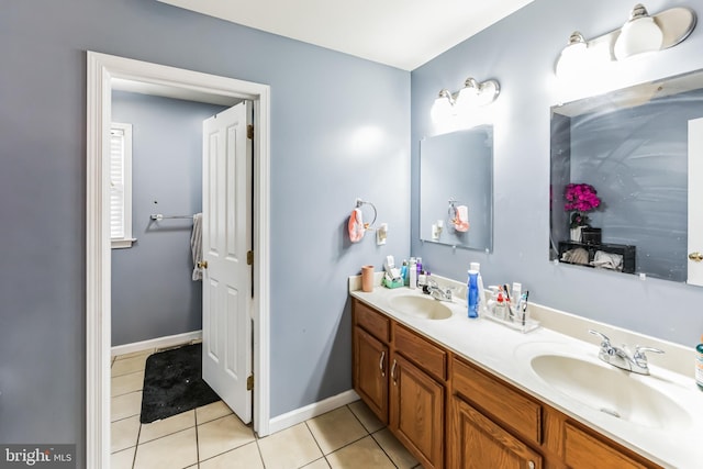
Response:
[[[202,377],[252,421],[252,103],[203,122]],[[207,264],[204,264],[207,263]]]

